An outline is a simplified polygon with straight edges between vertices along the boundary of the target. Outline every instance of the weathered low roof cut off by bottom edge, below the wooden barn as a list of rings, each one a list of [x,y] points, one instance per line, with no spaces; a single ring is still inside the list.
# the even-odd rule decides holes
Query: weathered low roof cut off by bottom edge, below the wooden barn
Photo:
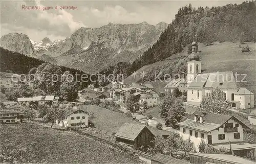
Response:
[[[161,153],[156,153],[153,157],[151,157],[152,164],[184,164],[189,163],[183,159],[177,159],[169,155],[164,155]]]

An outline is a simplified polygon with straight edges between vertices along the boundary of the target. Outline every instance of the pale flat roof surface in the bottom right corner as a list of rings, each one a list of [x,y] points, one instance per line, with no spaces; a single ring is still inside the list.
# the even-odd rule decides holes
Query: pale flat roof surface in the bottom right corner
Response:
[[[236,155],[231,155],[231,154],[207,154],[207,153],[189,153],[190,155],[196,155],[196,156],[201,156],[201,157],[206,157],[210,159],[216,159],[216,160],[221,160],[225,161],[228,163],[234,163],[234,164],[255,164],[256,162],[251,161],[246,158],[242,158]]]

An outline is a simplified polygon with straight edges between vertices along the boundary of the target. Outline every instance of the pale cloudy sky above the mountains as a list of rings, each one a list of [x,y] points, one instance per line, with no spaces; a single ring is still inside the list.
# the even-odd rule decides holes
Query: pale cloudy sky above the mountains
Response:
[[[146,21],[156,25],[169,24],[179,8],[189,3],[193,7],[241,4],[243,1],[5,1],[0,0],[0,35],[12,32],[24,33],[33,41],[49,37],[52,41],[70,37],[81,27],[98,28],[109,24],[139,24]],[[26,10],[28,6],[39,6],[39,10]],[[72,9],[59,9],[73,6]],[[53,9],[43,10],[44,7]],[[57,10],[55,9],[57,7]]]

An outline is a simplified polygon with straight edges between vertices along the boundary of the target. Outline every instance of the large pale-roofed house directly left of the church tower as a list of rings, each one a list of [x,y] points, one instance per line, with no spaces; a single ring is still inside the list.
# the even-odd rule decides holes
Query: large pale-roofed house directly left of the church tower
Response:
[[[174,89],[178,88],[180,92],[184,93],[187,91],[187,82],[184,78],[173,79],[165,87],[164,91],[173,92]]]

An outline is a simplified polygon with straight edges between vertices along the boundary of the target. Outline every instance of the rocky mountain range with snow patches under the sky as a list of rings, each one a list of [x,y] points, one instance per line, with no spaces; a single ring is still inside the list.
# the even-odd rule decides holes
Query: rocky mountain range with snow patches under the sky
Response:
[[[4,49],[19,52],[58,65],[96,73],[110,64],[132,62],[153,45],[167,24],[108,24],[100,28],[80,28],[65,40],[48,37],[32,41],[26,34],[1,37]]]

